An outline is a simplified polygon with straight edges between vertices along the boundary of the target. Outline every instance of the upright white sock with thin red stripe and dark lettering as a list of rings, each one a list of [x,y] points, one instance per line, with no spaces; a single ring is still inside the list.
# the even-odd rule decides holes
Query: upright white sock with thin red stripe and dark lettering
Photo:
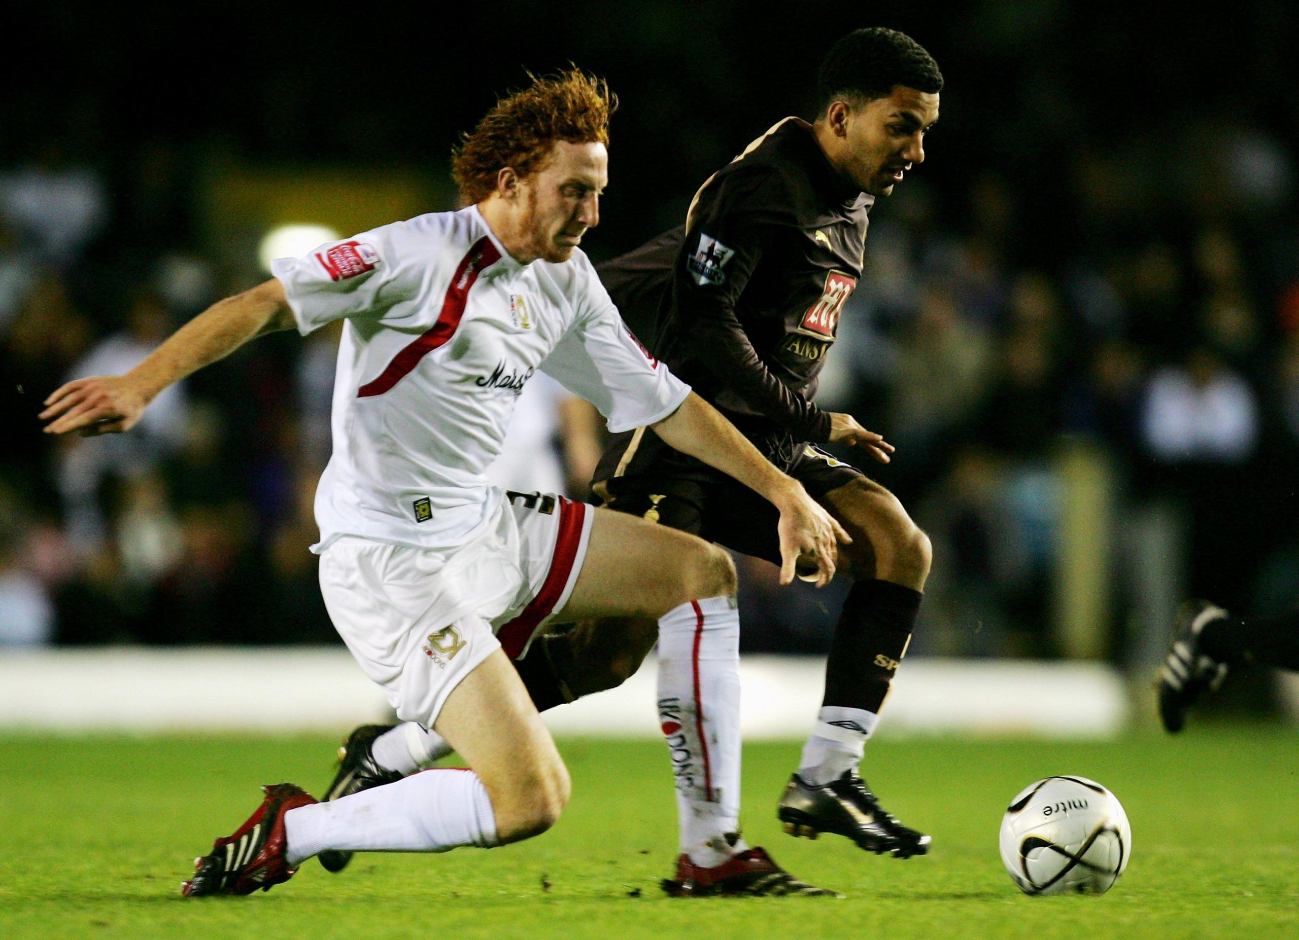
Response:
[[[690,601],[659,621],[659,721],[677,776],[681,850],[704,867],[739,840],[739,610]],[[734,841],[733,841],[734,840]]]

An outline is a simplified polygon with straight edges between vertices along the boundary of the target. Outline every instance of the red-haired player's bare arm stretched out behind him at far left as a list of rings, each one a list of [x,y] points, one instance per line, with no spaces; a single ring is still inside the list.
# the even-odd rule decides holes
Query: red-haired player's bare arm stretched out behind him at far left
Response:
[[[45,434],[118,434],[140,418],[158,392],[209,362],[229,356],[253,336],[295,326],[284,287],[271,278],[226,297],[177,330],[126,375],[75,379],[45,399]]]

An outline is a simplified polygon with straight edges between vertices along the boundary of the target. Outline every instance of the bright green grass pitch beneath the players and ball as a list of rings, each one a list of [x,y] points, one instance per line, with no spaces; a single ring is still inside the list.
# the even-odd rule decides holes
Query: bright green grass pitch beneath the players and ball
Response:
[[[868,779],[933,853],[896,861],[779,832],[798,744],[751,744],[746,836],[830,898],[668,898],[675,853],[655,741],[569,739],[573,802],[540,839],[442,856],[314,861],[244,898],[184,901],[194,856],[256,806],[256,784],[320,791],[322,737],[0,736],[0,937],[1299,937],[1299,736],[1199,730],[1113,743],[965,739],[868,745]],[[1131,819],[1103,897],[1033,898],[998,858],[1009,798],[1050,774],[1109,785]]]

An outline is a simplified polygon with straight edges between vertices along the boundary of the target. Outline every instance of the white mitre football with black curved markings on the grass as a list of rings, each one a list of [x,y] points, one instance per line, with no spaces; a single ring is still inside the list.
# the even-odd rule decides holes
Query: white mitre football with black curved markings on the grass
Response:
[[[1118,800],[1085,776],[1038,780],[1002,818],[1002,862],[1029,895],[1104,895],[1128,867],[1131,845]]]

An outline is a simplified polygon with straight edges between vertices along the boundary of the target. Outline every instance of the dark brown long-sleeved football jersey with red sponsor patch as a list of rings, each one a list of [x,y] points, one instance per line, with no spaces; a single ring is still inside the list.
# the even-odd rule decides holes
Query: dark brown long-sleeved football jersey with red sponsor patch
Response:
[[[655,354],[746,434],[825,441],[812,397],[861,277],[869,196],[786,118],[714,173],[683,227],[599,267]],[[644,322],[644,319],[642,319]]]

